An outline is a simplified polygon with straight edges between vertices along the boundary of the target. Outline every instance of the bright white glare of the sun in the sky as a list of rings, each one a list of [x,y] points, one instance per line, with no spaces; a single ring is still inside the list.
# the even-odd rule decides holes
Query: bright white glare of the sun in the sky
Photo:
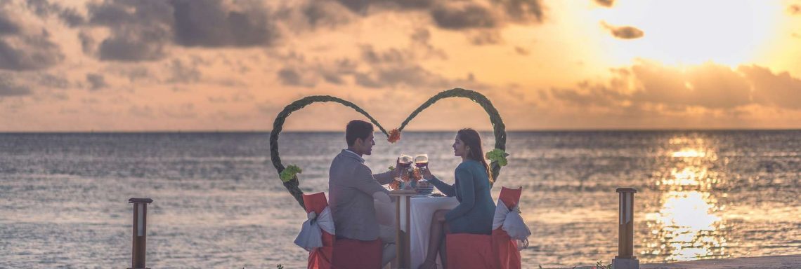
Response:
[[[769,49],[783,11],[780,0],[628,0],[598,9],[594,17],[645,33],[628,40],[606,36],[608,51],[618,61],[645,58],[670,65],[712,61],[735,67]]]

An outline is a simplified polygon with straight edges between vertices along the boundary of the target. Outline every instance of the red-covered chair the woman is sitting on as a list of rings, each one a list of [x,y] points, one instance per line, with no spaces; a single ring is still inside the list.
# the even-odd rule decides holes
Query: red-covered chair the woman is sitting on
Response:
[[[501,188],[501,200],[507,208],[520,202],[522,188]],[[521,256],[517,243],[498,227],[492,235],[450,234],[446,236],[448,268],[520,269]]]

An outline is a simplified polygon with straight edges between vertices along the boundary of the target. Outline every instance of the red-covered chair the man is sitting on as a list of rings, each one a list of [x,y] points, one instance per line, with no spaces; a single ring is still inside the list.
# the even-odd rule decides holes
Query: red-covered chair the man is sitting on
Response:
[[[306,212],[320,214],[328,207],[325,193],[304,194]],[[336,229],[336,227],[335,227]],[[323,247],[309,252],[308,269],[378,269],[381,267],[380,239],[361,241],[336,239],[336,235],[322,231]]]

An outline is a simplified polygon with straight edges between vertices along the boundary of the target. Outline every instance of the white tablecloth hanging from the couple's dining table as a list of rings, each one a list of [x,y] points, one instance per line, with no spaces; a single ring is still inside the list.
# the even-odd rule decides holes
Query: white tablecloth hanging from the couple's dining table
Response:
[[[409,247],[411,248],[412,268],[420,267],[429,251],[431,218],[440,209],[453,209],[459,204],[456,197],[413,197],[410,206]],[[439,263],[439,260],[437,260]]]

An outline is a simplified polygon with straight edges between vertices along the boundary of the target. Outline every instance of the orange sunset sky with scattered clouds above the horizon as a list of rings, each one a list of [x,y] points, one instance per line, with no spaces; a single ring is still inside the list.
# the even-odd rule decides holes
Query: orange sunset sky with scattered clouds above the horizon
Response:
[[[799,59],[801,0],[0,0],[0,132],[799,129]]]

